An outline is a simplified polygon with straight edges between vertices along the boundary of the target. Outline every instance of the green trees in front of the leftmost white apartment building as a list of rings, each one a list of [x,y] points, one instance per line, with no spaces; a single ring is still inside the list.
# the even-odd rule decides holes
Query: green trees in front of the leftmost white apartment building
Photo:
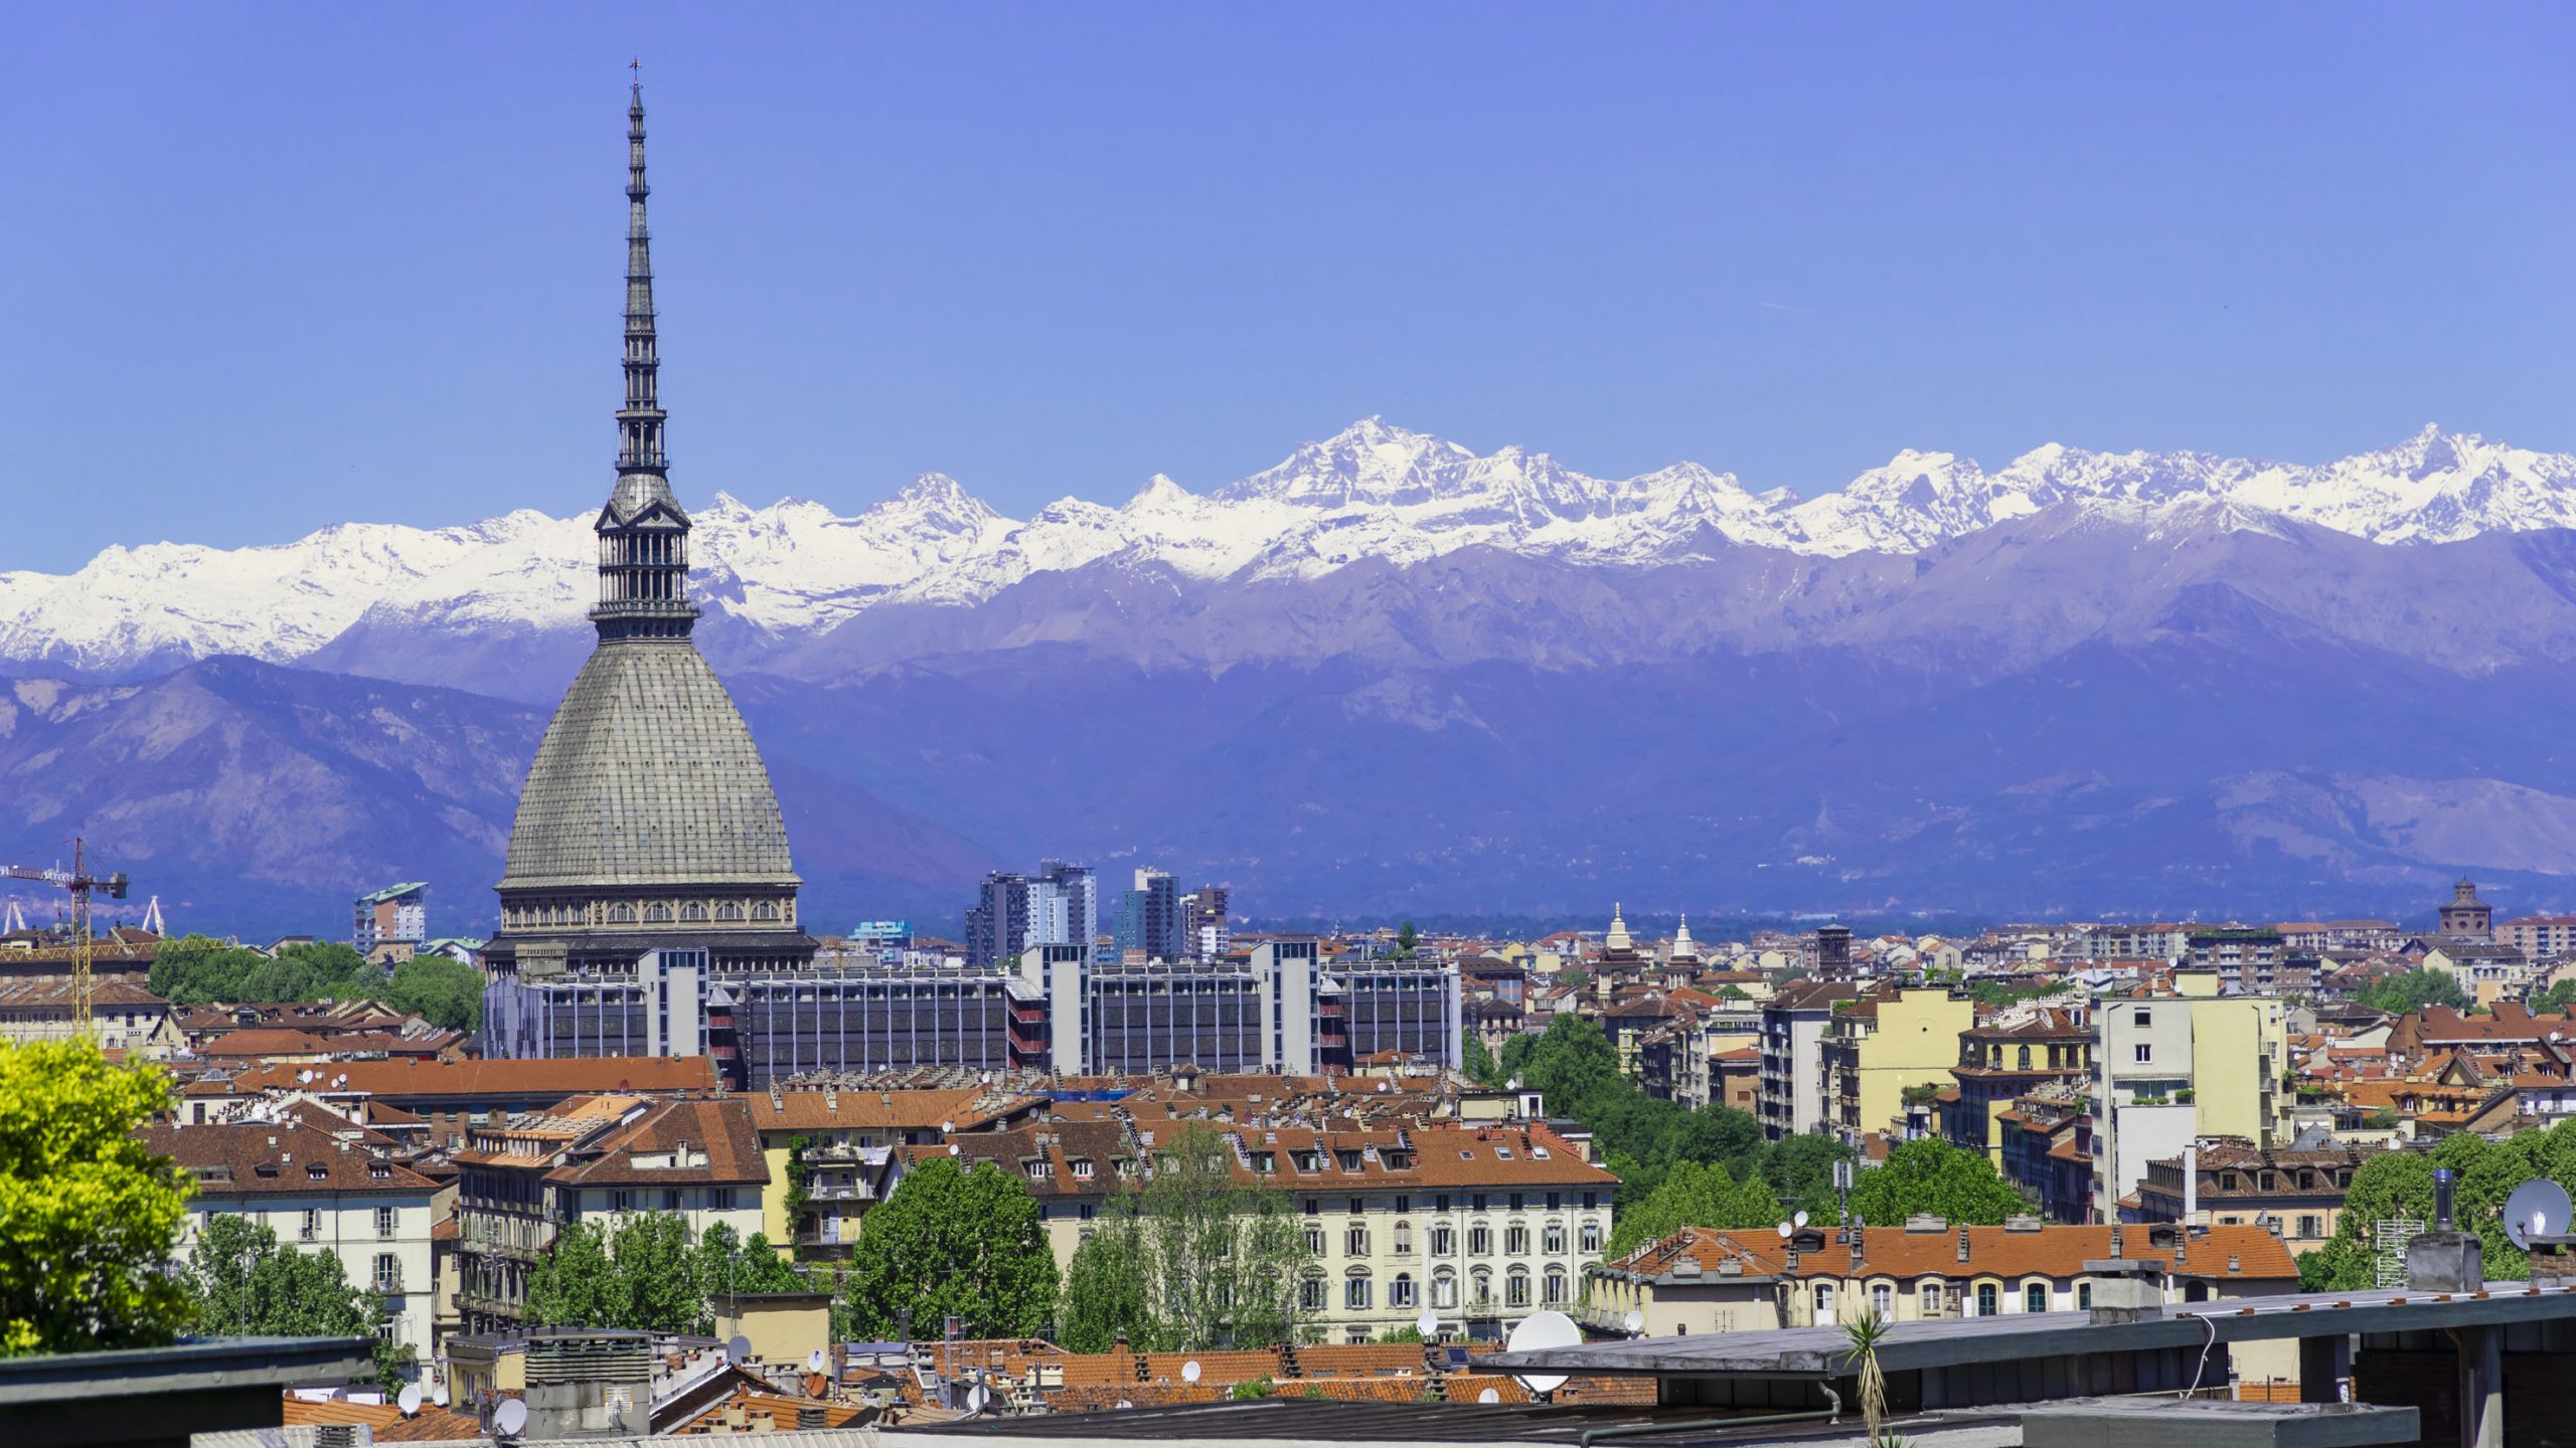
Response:
[[[337,1252],[301,1252],[247,1216],[216,1214],[188,1252],[196,1329],[216,1337],[366,1337],[376,1381],[394,1389],[410,1345],[376,1335],[384,1299],[353,1286]]]

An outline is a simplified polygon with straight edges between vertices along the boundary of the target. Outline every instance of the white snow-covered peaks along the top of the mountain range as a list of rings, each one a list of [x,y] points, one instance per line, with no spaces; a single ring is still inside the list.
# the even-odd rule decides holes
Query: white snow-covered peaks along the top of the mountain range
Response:
[[[1314,580],[1471,546],[1610,567],[1741,546],[1914,554],[2066,502],[2143,523],[2161,513],[2205,523],[2215,508],[2231,528],[2295,518],[2375,544],[2439,544],[2576,526],[2576,456],[2439,428],[2318,466],[2050,443],[1986,472],[1904,451],[1801,500],[1698,464],[1600,479],[1517,446],[1479,456],[1370,417],[1208,495],[1157,474],[1121,508],[1066,497],[1028,520],[943,474],[858,515],[793,497],[750,508],[719,492],[696,515],[696,564],[711,611],[796,639],[878,603],[969,605],[1103,562],[1190,580]],[[590,523],[536,510],[459,528],[337,523],[278,546],[149,544],[108,549],[75,575],[8,572],[0,662],[88,672],[214,654],[294,662],[361,621],[577,629],[592,598]]]

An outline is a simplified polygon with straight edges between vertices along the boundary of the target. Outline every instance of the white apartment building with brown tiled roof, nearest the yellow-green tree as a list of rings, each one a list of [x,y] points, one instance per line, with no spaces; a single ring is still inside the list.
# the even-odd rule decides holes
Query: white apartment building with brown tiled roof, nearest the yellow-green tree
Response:
[[[319,1113],[317,1113],[319,1116]],[[247,1216],[301,1252],[332,1252],[343,1275],[384,1293],[379,1335],[430,1360],[430,1226],[440,1185],[368,1144],[363,1129],[296,1121],[149,1126],[144,1147],[196,1180],[180,1257],[214,1216]]]

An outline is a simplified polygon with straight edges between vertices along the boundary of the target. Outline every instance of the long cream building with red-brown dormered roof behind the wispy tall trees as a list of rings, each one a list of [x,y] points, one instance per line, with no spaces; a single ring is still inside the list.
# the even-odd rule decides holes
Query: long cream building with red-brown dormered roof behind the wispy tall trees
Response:
[[[1051,1121],[951,1136],[961,1165],[994,1162],[1043,1206],[1056,1265],[1072,1262],[1136,1159],[1193,1121]],[[1298,1301],[1316,1342],[1368,1342],[1432,1309],[1453,1332],[1571,1311],[1610,1237],[1618,1177],[1546,1126],[1231,1126],[1239,1180],[1288,1193],[1306,1224]],[[909,1157],[948,1147],[909,1149]]]

